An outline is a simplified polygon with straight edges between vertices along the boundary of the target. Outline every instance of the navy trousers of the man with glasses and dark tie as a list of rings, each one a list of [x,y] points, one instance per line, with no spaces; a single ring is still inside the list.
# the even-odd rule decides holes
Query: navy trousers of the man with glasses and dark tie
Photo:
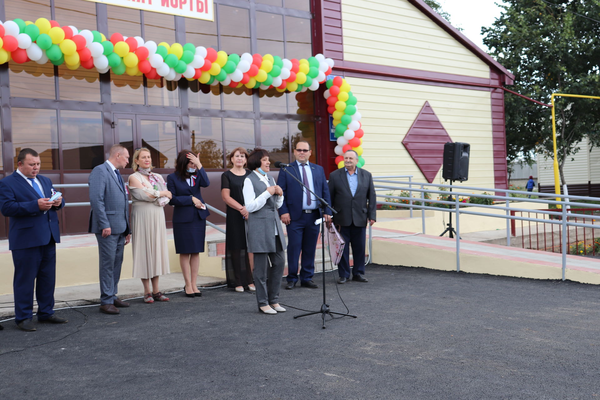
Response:
[[[298,282],[298,259],[302,254],[300,281],[307,282],[314,275],[314,253],[319,239],[319,225],[314,221],[319,218],[319,210],[311,213],[303,212],[296,221],[287,225],[287,281]]]

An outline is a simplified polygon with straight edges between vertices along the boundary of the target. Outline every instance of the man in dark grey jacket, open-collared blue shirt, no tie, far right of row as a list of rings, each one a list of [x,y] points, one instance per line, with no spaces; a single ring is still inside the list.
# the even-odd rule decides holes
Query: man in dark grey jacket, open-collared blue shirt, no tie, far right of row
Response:
[[[368,282],[365,274],[365,233],[367,222],[375,222],[376,197],[371,173],[357,168],[358,154],[349,150],[344,153],[344,168],[329,174],[329,194],[332,207],[337,211],[334,224],[340,225],[340,234],[346,242],[338,265],[340,280],[350,278],[350,248],[354,256],[352,280]]]

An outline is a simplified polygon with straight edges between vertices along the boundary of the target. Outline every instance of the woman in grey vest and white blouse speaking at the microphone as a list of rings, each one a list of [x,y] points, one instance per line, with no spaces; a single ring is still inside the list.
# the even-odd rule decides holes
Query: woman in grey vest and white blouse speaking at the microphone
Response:
[[[286,239],[277,209],[283,204],[283,191],[269,172],[269,153],[256,149],[248,157],[252,172],[244,180],[244,203],[248,210],[246,236],[248,252],[254,253],[254,285],[259,310],[265,314],[286,311],[279,305],[281,276],[285,266]],[[271,266],[269,267],[269,260]]]

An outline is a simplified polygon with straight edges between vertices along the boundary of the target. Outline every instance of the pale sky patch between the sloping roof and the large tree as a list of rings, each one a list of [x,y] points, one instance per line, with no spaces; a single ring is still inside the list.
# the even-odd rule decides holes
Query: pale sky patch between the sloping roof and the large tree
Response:
[[[491,26],[500,16],[502,8],[496,3],[502,0],[438,0],[444,11],[450,14],[453,26],[463,28],[463,34],[480,49],[488,51],[483,44],[482,26]]]

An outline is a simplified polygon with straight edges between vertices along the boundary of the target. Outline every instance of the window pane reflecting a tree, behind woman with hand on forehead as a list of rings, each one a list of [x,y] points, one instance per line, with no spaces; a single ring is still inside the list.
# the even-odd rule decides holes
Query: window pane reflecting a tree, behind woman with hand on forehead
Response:
[[[205,168],[223,168],[221,118],[190,117],[191,149]]]

